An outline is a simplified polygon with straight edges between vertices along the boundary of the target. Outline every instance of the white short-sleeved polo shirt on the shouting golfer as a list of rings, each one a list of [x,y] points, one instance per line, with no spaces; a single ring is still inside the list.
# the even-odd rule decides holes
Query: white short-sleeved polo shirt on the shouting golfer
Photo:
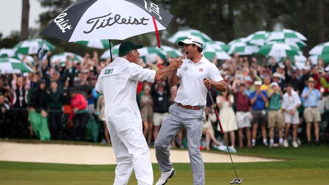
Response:
[[[177,76],[181,85],[177,90],[175,102],[190,106],[205,106],[207,103],[208,89],[202,83],[204,78],[216,82],[223,80],[216,65],[204,56],[196,64],[189,59],[183,60],[181,68],[177,70]]]

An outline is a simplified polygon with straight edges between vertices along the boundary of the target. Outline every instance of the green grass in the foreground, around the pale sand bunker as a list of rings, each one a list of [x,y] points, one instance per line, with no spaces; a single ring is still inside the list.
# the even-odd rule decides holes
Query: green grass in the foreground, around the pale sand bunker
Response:
[[[217,152],[217,151],[212,151]],[[256,147],[238,149],[240,155],[286,159],[279,162],[235,163],[243,184],[328,184],[329,147]],[[97,157],[97,156],[95,156]],[[231,163],[205,163],[206,184],[229,184],[235,176]],[[176,176],[167,184],[192,184],[189,164],[175,163]],[[113,184],[115,165],[67,165],[0,161],[0,184]],[[153,164],[154,181],[159,177]],[[137,184],[134,174],[129,184]]]

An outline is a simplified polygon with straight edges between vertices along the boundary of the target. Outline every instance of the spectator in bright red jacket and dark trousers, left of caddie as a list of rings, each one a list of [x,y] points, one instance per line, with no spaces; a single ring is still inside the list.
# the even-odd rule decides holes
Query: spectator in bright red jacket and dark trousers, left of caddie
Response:
[[[77,89],[71,89],[70,97],[74,113],[72,137],[75,141],[85,141],[85,128],[89,119],[87,100],[77,92]]]

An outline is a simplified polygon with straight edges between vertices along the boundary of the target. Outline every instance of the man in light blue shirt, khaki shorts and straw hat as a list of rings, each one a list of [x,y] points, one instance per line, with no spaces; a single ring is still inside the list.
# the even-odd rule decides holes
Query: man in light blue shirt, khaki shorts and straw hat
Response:
[[[316,145],[320,145],[319,140],[319,122],[321,121],[320,110],[318,108],[318,100],[321,99],[322,95],[318,89],[315,89],[316,81],[310,77],[306,81],[305,88],[302,92],[304,102],[304,118],[306,121],[306,134],[307,143],[311,145],[311,123],[314,124],[314,135]]]

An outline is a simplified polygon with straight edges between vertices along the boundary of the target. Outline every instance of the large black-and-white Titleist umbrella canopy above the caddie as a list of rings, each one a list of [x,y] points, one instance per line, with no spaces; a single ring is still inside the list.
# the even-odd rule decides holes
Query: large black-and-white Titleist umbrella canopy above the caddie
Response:
[[[173,17],[149,1],[81,0],[67,7],[40,34],[67,41],[123,40],[166,29]]]

